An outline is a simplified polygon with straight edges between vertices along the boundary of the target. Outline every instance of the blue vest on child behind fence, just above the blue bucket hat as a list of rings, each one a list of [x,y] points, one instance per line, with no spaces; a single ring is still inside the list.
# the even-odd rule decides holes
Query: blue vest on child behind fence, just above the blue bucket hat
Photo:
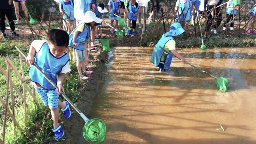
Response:
[[[184,4],[181,4],[180,1],[179,1],[178,7],[179,7],[179,12],[180,12],[180,19],[179,19],[179,15],[177,13],[176,14],[177,21],[184,21],[184,16],[186,15],[186,13],[188,11],[187,16],[185,18],[185,21],[188,22],[189,18],[190,18],[190,15],[191,15],[191,9],[188,9],[188,7],[189,7],[189,0],[187,0],[187,2],[184,3]],[[181,14],[182,10],[183,10],[183,14]]]

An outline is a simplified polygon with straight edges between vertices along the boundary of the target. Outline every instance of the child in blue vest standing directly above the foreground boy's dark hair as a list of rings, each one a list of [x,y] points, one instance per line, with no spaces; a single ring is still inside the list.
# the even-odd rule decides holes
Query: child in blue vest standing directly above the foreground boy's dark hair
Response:
[[[61,0],[60,1],[60,10],[61,12],[64,11],[63,19],[64,21],[67,22],[67,24],[64,22],[64,26],[67,28],[68,27],[68,33],[70,34],[72,29],[71,25],[73,28],[76,27],[76,22],[74,18],[74,2],[73,0]],[[70,15],[70,18],[69,18]],[[68,21],[68,18],[71,22]],[[69,23],[69,25],[68,25]]]

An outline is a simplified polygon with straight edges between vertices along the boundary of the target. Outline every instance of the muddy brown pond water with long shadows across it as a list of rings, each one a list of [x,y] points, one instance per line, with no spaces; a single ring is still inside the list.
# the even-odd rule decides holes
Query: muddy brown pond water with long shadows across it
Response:
[[[256,144],[256,48],[179,52],[227,78],[228,92],[177,58],[160,73],[152,48],[115,48],[89,116],[106,122],[103,144]]]

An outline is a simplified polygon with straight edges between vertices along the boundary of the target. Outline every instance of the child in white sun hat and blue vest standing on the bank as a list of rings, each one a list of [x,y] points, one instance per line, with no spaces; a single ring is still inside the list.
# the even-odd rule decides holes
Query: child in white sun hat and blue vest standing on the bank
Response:
[[[80,24],[72,31],[69,36],[69,45],[75,45],[72,48],[76,50],[76,67],[79,74],[79,78],[82,80],[89,79],[88,77],[83,75],[83,72],[88,75],[92,74],[92,71],[86,71],[86,67],[93,67],[92,65],[88,64],[88,55],[87,55],[87,48],[91,34],[90,26],[96,23],[101,23],[101,19],[97,18],[95,13],[92,11],[87,11],[85,13],[84,19],[81,20]],[[84,44],[78,44],[80,42],[86,42]]]

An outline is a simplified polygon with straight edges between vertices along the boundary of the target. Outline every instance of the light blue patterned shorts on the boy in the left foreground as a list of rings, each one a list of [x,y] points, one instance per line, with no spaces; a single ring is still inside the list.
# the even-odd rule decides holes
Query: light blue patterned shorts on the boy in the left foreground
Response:
[[[56,90],[46,90],[38,87],[35,87],[35,89],[45,106],[49,105],[49,107],[53,109],[58,108],[59,94]]]

